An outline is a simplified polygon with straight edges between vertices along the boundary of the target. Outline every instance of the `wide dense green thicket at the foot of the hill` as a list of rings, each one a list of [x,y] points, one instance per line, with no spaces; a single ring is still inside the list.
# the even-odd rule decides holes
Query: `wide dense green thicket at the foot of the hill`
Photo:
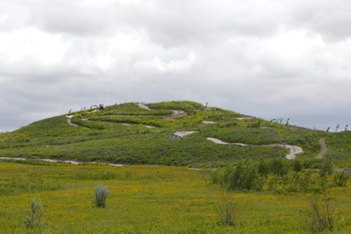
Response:
[[[211,180],[230,191],[265,190],[274,193],[324,193],[347,181],[345,175],[336,175],[332,181],[331,177],[312,170],[289,172],[287,168],[280,160],[238,163],[216,170],[211,174]]]

